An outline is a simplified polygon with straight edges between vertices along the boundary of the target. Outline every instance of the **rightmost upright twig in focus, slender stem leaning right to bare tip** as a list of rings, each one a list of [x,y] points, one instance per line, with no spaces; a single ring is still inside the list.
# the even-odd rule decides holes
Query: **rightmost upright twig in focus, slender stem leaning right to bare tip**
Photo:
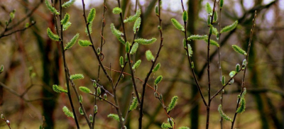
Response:
[[[251,40],[252,40],[252,38],[253,38],[253,28],[256,26],[255,21],[256,21],[256,11],[254,12],[253,25],[252,25],[252,27],[251,27],[251,35],[250,35],[250,37],[249,37],[248,50],[246,51],[246,53],[247,53],[247,55],[246,55],[246,67],[248,66],[248,63],[249,63],[249,50],[251,50]],[[243,79],[242,79],[242,81],[241,81],[242,83],[241,83],[241,93],[240,93],[240,96],[244,93],[245,77],[246,77],[246,67],[244,68]],[[238,101],[237,101],[236,110],[237,110],[238,107],[239,107],[240,100],[241,100],[241,98],[239,98]],[[236,115],[237,115],[237,114],[238,114],[238,113],[235,113],[234,119],[233,119],[233,121],[231,122],[231,129],[234,128],[234,123],[235,123]]]

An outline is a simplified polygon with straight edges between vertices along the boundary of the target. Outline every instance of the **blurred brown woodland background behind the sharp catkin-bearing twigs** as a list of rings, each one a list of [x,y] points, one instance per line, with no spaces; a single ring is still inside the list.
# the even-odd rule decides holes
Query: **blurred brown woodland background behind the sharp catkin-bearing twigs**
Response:
[[[135,1],[123,0],[121,6],[126,16],[133,15]],[[207,35],[207,13],[204,5],[212,0],[184,0],[185,9],[188,12],[189,22],[187,31],[190,35]],[[102,26],[103,0],[87,1],[87,9],[94,7],[97,15],[92,29],[92,38],[96,47],[100,43],[100,28]],[[151,50],[153,54],[158,51],[160,35],[157,29],[158,18],[155,16],[156,0],[140,0],[138,8],[142,11],[142,24],[138,38],[157,38],[153,45],[140,45],[136,54],[136,60],[141,59],[142,63],[136,70],[136,77],[144,79],[151,67],[146,61],[145,52]],[[35,26],[25,31],[14,33],[7,37],[0,38],[0,64],[5,69],[0,74],[0,82],[7,86],[0,87],[1,110],[11,122],[11,128],[38,128],[43,124],[43,116],[47,128],[73,128],[74,120],[67,118],[62,113],[62,106],[70,106],[65,94],[56,94],[52,90],[53,84],[65,86],[62,58],[58,43],[53,42],[46,35],[46,29],[55,28],[53,16],[46,8],[44,1],[40,0],[1,0],[0,1],[0,33],[4,31],[5,21],[9,20],[9,13],[16,9],[16,16],[11,23],[11,31],[21,29],[26,23],[36,21]],[[57,4],[58,6],[58,4]],[[111,34],[109,25],[114,23],[120,28],[119,15],[111,13],[117,6],[117,1],[107,0],[106,28],[104,38],[103,64],[107,67],[111,64],[112,69],[120,69],[119,57],[124,56],[124,46],[119,43]],[[222,26],[227,26],[234,21],[239,21],[236,30],[222,34],[222,70],[226,76],[234,70],[237,63],[241,64],[244,56],[238,55],[231,49],[236,44],[246,48],[249,42],[249,33],[254,11],[258,11],[256,28],[253,33],[249,67],[246,76],[246,111],[239,114],[236,119],[235,128],[284,128],[284,1],[283,0],[224,0],[222,9]],[[33,12],[33,13],[31,13]],[[64,12],[70,13],[72,26],[64,32],[65,42],[73,35],[80,33],[80,39],[87,40],[84,33],[84,19],[82,16],[82,4],[77,0],[75,5],[67,8]],[[182,47],[183,33],[176,30],[170,18],[182,21],[182,8],[180,1],[163,1],[162,27],[164,46],[161,50],[158,62],[161,68],[151,75],[151,78],[163,75],[164,79],[159,84],[158,91],[163,94],[166,104],[177,95],[178,105],[170,115],[175,119],[177,127],[186,125],[192,129],[204,128],[206,121],[206,108],[204,107],[200,94],[192,80],[192,73],[185,58],[185,51]],[[28,15],[32,14],[32,15]],[[28,16],[27,16],[28,15]],[[26,18],[26,19],[23,19]],[[18,26],[13,26],[21,21]],[[126,23],[126,34],[133,37],[133,24]],[[215,37],[213,37],[216,40]],[[207,72],[205,69],[207,44],[204,41],[192,42],[193,57],[197,78],[202,86],[202,91],[207,93]],[[217,47],[212,46],[210,50],[212,93],[216,92],[220,85],[217,69]],[[71,74],[84,74],[84,79],[76,81],[77,86],[92,88],[89,79],[97,79],[98,62],[92,50],[86,47],[75,45],[66,52],[67,64]],[[129,72],[128,69],[126,72]],[[34,73],[34,74],[33,74]],[[35,75],[33,77],[33,75]],[[116,80],[117,72],[111,72]],[[142,91],[142,83],[138,82],[138,91]],[[101,82],[107,90],[111,87],[105,76],[102,74]],[[153,86],[153,79],[148,84]],[[223,110],[233,117],[236,106],[237,95],[241,86],[241,74],[235,78],[235,83],[227,86],[224,95]],[[28,90],[27,90],[28,89]],[[13,90],[13,91],[11,91]],[[132,93],[132,84],[129,76],[125,75],[117,92],[122,112],[125,114]],[[93,111],[94,97],[83,94],[84,107],[87,113]],[[207,94],[205,94],[207,97]],[[109,97],[110,101],[113,101]],[[219,96],[217,96],[211,108],[210,128],[219,128]],[[75,107],[79,108],[75,103]],[[108,103],[99,101],[99,113],[96,118],[95,128],[118,128],[119,124],[107,118],[109,113],[116,113],[115,108]],[[155,99],[153,91],[146,88],[146,101],[144,106],[143,128],[160,128],[161,123],[166,122],[165,116],[158,99]],[[80,124],[87,128],[84,118],[80,116]],[[131,112],[128,121],[128,128],[137,128],[138,110]],[[224,128],[231,127],[231,123],[224,121]],[[4,121],[0,122],[0,128],[8,128]]]

